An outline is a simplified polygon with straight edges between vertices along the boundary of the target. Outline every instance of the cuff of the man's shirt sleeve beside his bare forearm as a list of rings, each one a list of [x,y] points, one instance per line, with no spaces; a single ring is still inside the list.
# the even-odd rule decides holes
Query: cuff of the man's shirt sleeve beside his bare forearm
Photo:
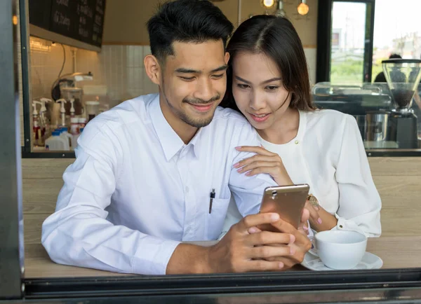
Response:
[[[175,248],[181,243],[147,237],[147,247],[139,248],[133,256],[133,273],[138,275],[166,275],[166,268]]]

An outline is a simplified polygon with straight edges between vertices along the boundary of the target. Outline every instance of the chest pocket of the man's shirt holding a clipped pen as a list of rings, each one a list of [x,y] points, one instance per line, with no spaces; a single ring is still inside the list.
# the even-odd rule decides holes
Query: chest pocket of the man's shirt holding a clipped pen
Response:
[[[229,205],[229,198],[214,198],[212,211],[207,212],[206,236],[208,240],[217,240],[224,226]]]

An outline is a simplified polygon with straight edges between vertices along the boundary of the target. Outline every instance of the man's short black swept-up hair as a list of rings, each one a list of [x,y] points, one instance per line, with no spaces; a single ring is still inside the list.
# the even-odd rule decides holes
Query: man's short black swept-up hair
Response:
[[[174,41],[202,43],[222,39],[225,48],[233,29],[222,11],[207,0],[166,2],[147,22],[152,55],[161,62],[174,55]]]

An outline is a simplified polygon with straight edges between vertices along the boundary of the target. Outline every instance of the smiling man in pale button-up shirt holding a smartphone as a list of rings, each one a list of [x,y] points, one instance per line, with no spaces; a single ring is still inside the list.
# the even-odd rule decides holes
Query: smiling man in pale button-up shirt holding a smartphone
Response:
[[[123,102],[83,130],[43,224],[53,261],[145,275],[282,270],[302,261],[308,238],[277,214],[258,214],[274,181],[233,167],[248,157],[235,147],[258,139],[239,114],[217,108],[232,29],[209,1],[169,2],[149,20],[145,69],[159,95]],[[212,247],[182,243],[217,239],[231,192],[246,217]],[[264,223],[282,233],[253,233]]]

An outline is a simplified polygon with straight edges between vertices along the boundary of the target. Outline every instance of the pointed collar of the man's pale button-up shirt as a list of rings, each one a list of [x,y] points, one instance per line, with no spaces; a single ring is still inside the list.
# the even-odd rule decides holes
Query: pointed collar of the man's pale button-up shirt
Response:
[[[166,157],[167,162],[175,156],[175,154],[180,151],[180,149],[185,146],[184,141],[178,136],[177,133],[173,130],[171,125],[169,125],[166,118],[163,116],[161,106],[159,104],[159,94],[156,95],[155,99],[151,102],[149,108],[149,117],[152,120],[152,125],[154,126],[155,132],[158,136],[159,142],[161,143],[163,153]],[[201,129],[194,135],[192,140],[188,145],[192,144],[194,146],[194,156],[199,157],[199,139],[201,134]]]

